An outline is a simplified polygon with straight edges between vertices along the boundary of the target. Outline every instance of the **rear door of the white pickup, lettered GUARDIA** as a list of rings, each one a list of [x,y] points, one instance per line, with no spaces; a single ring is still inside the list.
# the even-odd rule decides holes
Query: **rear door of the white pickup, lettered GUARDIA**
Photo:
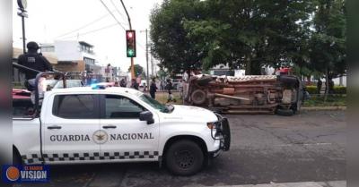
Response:
[[[52,108],[43,118],[44,160],[49,163],[99,160],[100,144],[93,140],[100,130],[99,95],[53,97]]]

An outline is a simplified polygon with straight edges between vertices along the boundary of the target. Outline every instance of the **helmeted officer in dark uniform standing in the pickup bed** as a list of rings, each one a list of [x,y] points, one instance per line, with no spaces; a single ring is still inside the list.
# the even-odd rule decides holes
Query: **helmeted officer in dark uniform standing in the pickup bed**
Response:
[[[19,56],[18,64],[39,72],[53,71],[52,65],[48,62],[48,60],[43,55],[38,53],[39,45],[36,42],[31,41],[26,47],[28,48],[28,53]],[[29,85],[29,80],[35,79],[38,73],[26,70],[22,72],[25,73],[25,86],[27,89],[31,90],[33,85]]]

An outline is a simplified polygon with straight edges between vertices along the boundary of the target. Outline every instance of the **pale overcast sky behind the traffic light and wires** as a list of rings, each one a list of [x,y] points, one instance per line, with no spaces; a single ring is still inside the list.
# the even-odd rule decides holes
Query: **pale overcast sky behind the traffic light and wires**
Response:
[[[123,27],[128,29],[126,13],[120,1],[102,1]],[[155,4],[162,4],[162,0],[123,1],[131,17],[132,27],[136,30],[135,64],[141,64],[145,68],[145,33],[140,30],[149,29],[151,10]],[[16,1],[13,0],[13,47],[22,48],[22,21],[16,14],[17,7]],[[27,41],[52,43],[54,40],[83,40],[94,46],[97,60],[101,64],[110,63],[127,72],[130,59],[126,57],[125,30],[116,24],[117,21],[101,4],[101,0],[28,0],[27,11],[29,14],[29,18],[25,21]],[[77,30],[79,28],[83,29]],[[102,28],[106,29],[101,30]],[[71,33],[67,34],[69,32]],[[66,35],[62,36],[64,34]]]

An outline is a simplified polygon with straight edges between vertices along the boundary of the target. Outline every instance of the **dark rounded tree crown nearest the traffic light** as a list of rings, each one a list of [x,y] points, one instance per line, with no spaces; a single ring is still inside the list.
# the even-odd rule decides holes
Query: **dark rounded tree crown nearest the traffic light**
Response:
[[[201,68],[201,51],[187,38],[183,22],[200,17],[199,0],[164,0],[151,14],[153,55],[168,72],[184,72]]]

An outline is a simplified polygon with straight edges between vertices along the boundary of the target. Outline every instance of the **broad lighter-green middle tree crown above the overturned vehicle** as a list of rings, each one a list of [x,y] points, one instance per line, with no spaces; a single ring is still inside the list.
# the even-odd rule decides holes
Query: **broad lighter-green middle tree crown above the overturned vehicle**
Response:
[[[259,74],[262,65],[303,62],[311,1],[204,2],[208,16],[186,21],[188,37],[204,52],[204,67],[230,64]]]

